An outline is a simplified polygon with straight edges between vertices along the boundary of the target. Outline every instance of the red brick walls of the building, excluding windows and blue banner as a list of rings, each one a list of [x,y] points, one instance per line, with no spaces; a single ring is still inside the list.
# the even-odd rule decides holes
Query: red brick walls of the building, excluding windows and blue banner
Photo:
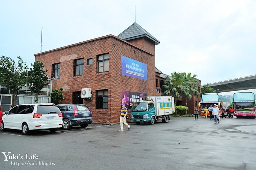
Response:
[[[52,65],[61,63],[60,78],[52,80],[52,89],[63,87],[65,100],[62,103],[73,102],[72,92],[91,88],[93,99],[84,99],[84,104],[91,109],[94,122],[116,123],[120,118],[122,90],[144,92],[148,93],[148,96],[155,95],[154,43],[145,38],[131,43],[135,42],[137,46],[108,35],[35,54],[35,61],[44,63],[44,69],[48,69],[49,77],[52,77]],[[145,50],[142,50],[142,46],[138,44]],[[109,53],[109,71],[97,73],[97,56],[105,53]],[[122,75],[121,55],[147,64],[148,80]],[[74,60],[82,58],[84,58],[84,75],[73,76]],[[93,59],[93,64],[87,65],[87,59]],[[96,109],[96,90],[105,89],[108,89],[108,109]]]

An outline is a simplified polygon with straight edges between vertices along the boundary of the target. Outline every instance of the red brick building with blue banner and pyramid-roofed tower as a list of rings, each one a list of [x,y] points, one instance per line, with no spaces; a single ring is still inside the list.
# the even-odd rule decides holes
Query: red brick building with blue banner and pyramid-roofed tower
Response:
[[[53,78],[52,89],[64,89],[62,103],[86,104],[95,123],[116,123],[122,102],[129,109],[140,96],[161,95],[155,68],[159,43],[133,23],[118,36],[102,36],[34,56]],[[82,98],[83,88],[90,88],[91,98]]]

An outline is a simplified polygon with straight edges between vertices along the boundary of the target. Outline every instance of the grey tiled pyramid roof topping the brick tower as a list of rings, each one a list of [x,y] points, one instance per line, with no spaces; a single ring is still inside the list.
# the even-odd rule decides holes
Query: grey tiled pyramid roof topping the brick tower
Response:
[[[154,41],[155,45],[160,43],[160,41],[154,38],[154,36],[149,34],[145,29],[139,26],[139,24],[137,24],[136,22],[131,24],[130,27],[128,27],[126,30],[120,33],[117,37],[127,41],[127,40],[136,39],[144,36]]]

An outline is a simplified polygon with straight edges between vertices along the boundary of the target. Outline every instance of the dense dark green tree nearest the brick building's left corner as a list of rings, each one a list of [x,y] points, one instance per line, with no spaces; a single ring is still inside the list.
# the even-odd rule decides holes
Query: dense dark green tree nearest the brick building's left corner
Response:
[[[38,102],[38,94],[48,84],[46,75],[46,72],[48,70],[44,71],[43,62],[40,61],[36,61],[34,65],[31,64],[31,66],[33,67],[33,69],[30,68],[31,74],[28,78],[29,89],[31,89],[32,92],[36,93],[35,102]]]

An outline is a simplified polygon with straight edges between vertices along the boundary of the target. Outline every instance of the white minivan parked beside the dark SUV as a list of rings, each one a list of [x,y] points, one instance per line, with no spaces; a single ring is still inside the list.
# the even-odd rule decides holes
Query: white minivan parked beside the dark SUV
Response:
[[[62,123],[62,113],[53,103],[21,104],[5,112],[0,131],[18,129],[28,134],[30,130],[49,129],[55,132]]]

